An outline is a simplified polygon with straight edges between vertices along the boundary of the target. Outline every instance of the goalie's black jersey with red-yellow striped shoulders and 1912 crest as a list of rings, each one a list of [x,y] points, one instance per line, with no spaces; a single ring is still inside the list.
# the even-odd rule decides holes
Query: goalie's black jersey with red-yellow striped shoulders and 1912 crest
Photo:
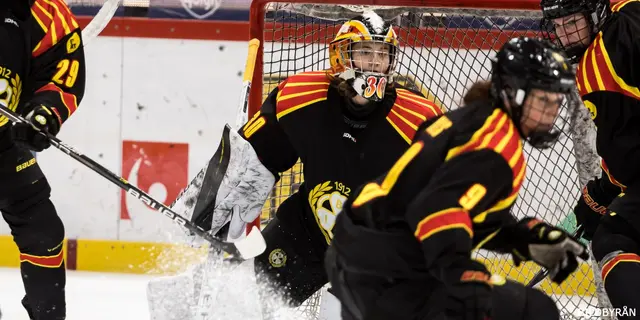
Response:
[[[344,103],[324,71],[300,73],[280,83],[241,130],[275,174],[301,160],[304,183],[287,202],[302,197],[304,208],[293,214],[304,216],[320,248],[333,237],[336,215],[354,188],[391,167],[418,126],[442,113],[422,96],[396,88],[368,117],[366,128],[353,130],[345,122]]]

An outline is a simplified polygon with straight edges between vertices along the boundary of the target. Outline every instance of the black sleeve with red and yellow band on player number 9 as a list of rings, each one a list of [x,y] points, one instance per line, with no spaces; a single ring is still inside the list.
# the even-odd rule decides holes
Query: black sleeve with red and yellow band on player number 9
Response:
[[[409,201],[405,213],[427,266],[446,268],[446,261],[470,258],[483,235],[510,221],[508,211],[489,216],[490,224],[477,223],[474,218],[507,198],[512,180],[507,162],[490,149],[463,153],[434,172],[426,187]],[[489,226],[493,230],[487,230]]]

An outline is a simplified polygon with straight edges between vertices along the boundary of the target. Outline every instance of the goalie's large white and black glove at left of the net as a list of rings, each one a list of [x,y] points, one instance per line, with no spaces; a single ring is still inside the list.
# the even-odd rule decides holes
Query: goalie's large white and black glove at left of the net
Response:
[[[209,164],[171,209],[215,236],[223,237],[225,230],[226,240],[235,241],[245,235],[247,224],[260,216],[275,182],[251,144],[227,125]]]

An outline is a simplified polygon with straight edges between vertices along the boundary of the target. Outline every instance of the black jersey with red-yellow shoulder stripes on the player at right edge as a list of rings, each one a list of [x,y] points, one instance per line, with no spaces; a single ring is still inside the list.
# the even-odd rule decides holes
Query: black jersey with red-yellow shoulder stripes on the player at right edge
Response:
[[[576,77],[598,128],[603,171],[624,190],[640,179],[640,1],[621,1],[611,9]]]

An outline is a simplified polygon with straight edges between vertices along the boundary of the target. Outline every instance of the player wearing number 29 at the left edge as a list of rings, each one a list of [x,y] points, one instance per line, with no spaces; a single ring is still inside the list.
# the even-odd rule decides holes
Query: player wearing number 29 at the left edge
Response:
[[[0,104],[29,121],[0,117],[0,212],[20,250],[29,317],[64,319],[64,227],[31,151],[49,147],[39,131],[56,135],[82,99],[80,28],[61,0],[4,0],[0,14]]]

